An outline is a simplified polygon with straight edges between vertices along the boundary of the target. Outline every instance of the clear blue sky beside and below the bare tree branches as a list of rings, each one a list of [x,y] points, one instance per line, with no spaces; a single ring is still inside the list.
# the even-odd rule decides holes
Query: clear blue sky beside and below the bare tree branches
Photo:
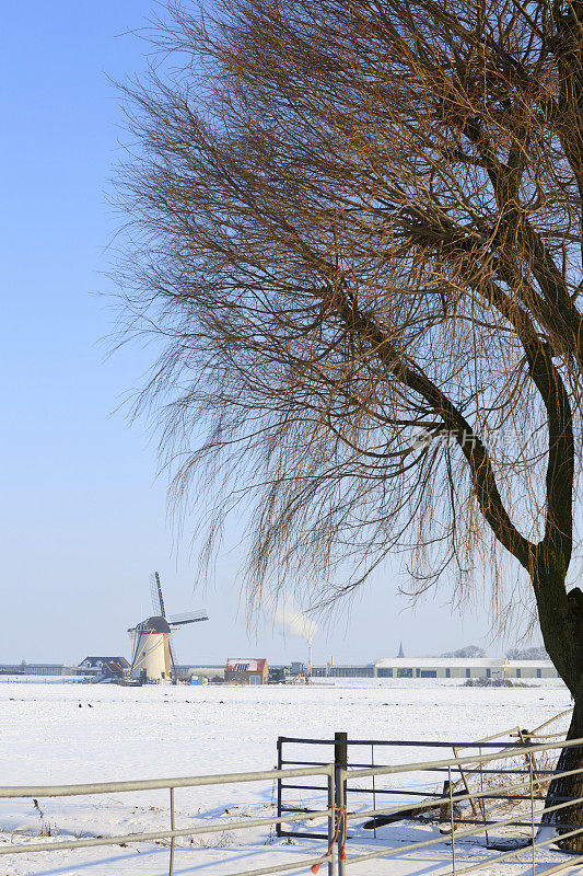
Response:
[[[107,358],[113,330],[103,272],[118,219],[107,205],[123,139],[108,77],[144,69],[132,31],[151,0],[56,0],[5,7],[2,210],[2,610],[0,662],[80,661],[125,654],[126,630],[150,612],[159,569],[168,609],[206,606],[210,621],[176,637],[178,661],[232,656],[302,659],[305,646],[269,620],[248,634],[236,552],[219,557],[214,584],[197,589],[187,540],[166,519],[165,482],[144,425],[116,413],[140,384],[149,351]],[[196,553],[196,546],[195,546]],[[364,662],[397,653],[439,654],[486,644],[482,611],[452,614],[443,589],[415,612],[396,596],[387,564],[350,613],[320,626],[314,660]]]

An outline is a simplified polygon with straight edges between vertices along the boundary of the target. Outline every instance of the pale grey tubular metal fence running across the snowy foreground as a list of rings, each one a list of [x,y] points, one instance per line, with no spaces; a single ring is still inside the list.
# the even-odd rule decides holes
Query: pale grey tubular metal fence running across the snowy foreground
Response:
[[[486,744],[482,742],[482,745]],[[557,797],[556,799],[560,799],[560,803],[553,800],[550,805],[547,805],[545,799],[546,795],[540,793],[548,786],[550,775],[553,777],[567,777],[583,774],[583,768],[572,769],[561,773],[537,768],[535,760],[537,754],[557,752],[564,747],[583,748],[583,740],[580,739],[570,742],[555,741],[543,745],[522,742],[503,751],[490,751],[489,753],[482,754],[473,753],[464,758],[453,757],[443,760],[430,760],[399,765],[369,766],[364,769],[351,769],[347,765],[339,765],[338,763],[328,763],[296,769],[226,773],[222,775],[191,776],[185,779],[159,779],[135,782],[107,782],[101,784],[49,785],[37,787],[0,787],[0,798],[72,797],[94,794],[154,791],[161,788],[167,789],[170,793],[170,829],[107,838],[26,842],[18,846],[1,846],[0,855],[78,850],[96,845],[118,845],[121,843],[148,842],[165,839],[171,840],[168,874],[172,876],[174,873],[175,841],[177,838],[193,837],[200,833],[215,833],[225,830],[238,831],[252,827],[269,827],[281,825],[282,822],[293,823],[314,818],[325,818],[327,821],[327,831],[325,834],[319,835],[319,839],[324,842],[320,854],[312,856],[306,855],[302,858],[278,863],[267,867],[247,869],[233,874],[232,876],[261,876],[261,874],[291,873],[294,871],[312,871],[312,873],[316,873],[323,864],[327,866],[328,876],[345,876],[348,867],[358,868],[359,864],[364,864],[365,862],[374,860],[390,857],[399,860],[410,852],[428,850],[438,845],[446,850],[446,856],[441,862],[441,866],[447,864],[447,860],[451,858],[451,868],[446,872],[440,868],[441,876],[462,876],[462,874],[479,871],[482,867],[492,867],[498,863],[509,861],[523,852],[525,846],[522,849],[513,849],[495,856],[489,855],[483,861],[468,864],[463,860],[463,841],[469,837],[485,835],[494,827],[500,829],[502,827],[512,826],[516,823],[516,816],[513,814],[510,817],[500,818],[495,809],[489,812],[485,812],[482,809],[481,819],[464,819],[459,812],[459,808],[464,804],[469,803],[481,806],[485,800],[491,800],[492,798],[499,800],[520,798],[521,805],[527,806],[529,815],[527,821],[529,827],[527,848],[530,850],[530,864],[528,866],[532,866],[533,876],[535,876],[535,874],[536,876],[550,876],[551,874],[565,871],[575,864],[583,863],[583,854],[576,854],[565,856],[564,861],[546,867],[543,871],[537,869],[538,851],[548,849],[549,845],[557,844],[568,838],[583,833],[583,825],[576,823],[561,827],[560,835],[552,829],[550,835],[538,832],[538,828],[544,822],[547,823],[551,820],[553,814],[568,807],[583,805],[583,797]],[[524,770],[516,771],[513,769],[512,761],[516,758],[524,760],[526,764]],[[466,771],[468,774],[474,775],[476,770],[479,770],[482,774],[488,775],[490,774],[488,772],[490,765],[500,760],[510,761],[510,769],[505,771],[505,774],[509,777],[512,776],[511,781],[505,782],[505,784],[498,784],[493,789],[492,787],[486,787],[483,789],[476,789],[474,787],[468,791],[464,788],[462,793],[454,789],[454,774],[456,771],[458,773]],[[350,825],[358,825],[359,821],[380,817],[398,817],[399,814],[405,814],[408,819],[415,820],[416,812],[427,816],[428,803],[427,800],[417,803],[408,802],[405,805],[392,805],[384,808],[376,808],[376,806],[373,806],[369,809],[364,808],[357,811],[349,811],[347,808],[347,789],[350,788],[350,784],[360,780],[373,777],[415,775],[425,774],[428,772],[442,772],[447,775],[447,792],[441,796],[433,796],[431,798],[430,809],[433,812],[432,823],[440,827],[441,832],[439,835],[432,835],[427,840],[417,840],[405,844],[400,843],[398,846],[390,848],[386,848],[386,845],[383,846],[381,842],[374,843],[371,838],[370,843],[371,846],[374,848],[371,848],[371,850],[365,853],[351,854],[350,845],[352,844],[352,839],[348,835]],[[520,773],[517,781],[516,772]],[[497,770],[497,774],[500,774],[500,770]],[[313,776],[326,777],[326,804],[319,809],[311,810],[310,812],[282,812],[276,817],[269,818],[245,818],[244,820],[235,820],[228,823],[224,821],[210,825],[206,823],[201,827],[188,827],[185,829],[176,829],[175,827],[174,797],[177,788],[228,785],[245,782],[272,782],[273,780],[287,782],[292,779],[310,780]],[[322,789],[322,787],[323,786],[318,786],[318,789]],[[360,869],[360,872],[362,873],[363,871]]]

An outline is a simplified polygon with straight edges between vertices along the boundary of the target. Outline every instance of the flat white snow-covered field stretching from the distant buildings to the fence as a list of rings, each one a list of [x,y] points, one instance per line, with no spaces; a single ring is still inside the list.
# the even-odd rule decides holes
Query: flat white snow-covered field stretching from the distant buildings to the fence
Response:
[[[280,735],[330,738],[335,730],[346,730],[354,739],[471,740],[516,725],[533,728],[569,707],[562,684],[536,684],[482,690],[456,681],[386,679],[342,680],[327,687],[117,688],[9,681],[0,684],[0,783],[70,784],[269,770],[276,763]],[[305,752],[296,754],[302,756]],[[384,762],[448,756],[443,749],[407,748],[392,750]],[[377,762],[383,762],[381,756]],[[272,812],[273,792],[273,783],[266,782],[177,789],[177,827],[252,814],[265,817]],[[114,835],[163,830],[167,825],[167,791],[39,799],[38,809],[26,800],[0,800],[3,848],[43,833],[58,839]],[[376,841],[359,829],[351,833],[349,855],[439,835],[434,827],[410,822],[383,828]],[[466,845],[463,854],[468,864],[495,855],[476,842]],[[225,831],[182,841],[175,873],[225,876],[324,851],[324,843],[313,840],[293,844],[275,840],[269,828]],[[523,876],[532,873],[528,855],[480,873]],[[0,874],[162,876],[167,873],[167,857],[165,843],[8,854],[0,856]],[[539,860],[543,868],[544,862],[548,866],[564,858],[549,851]],[[349,867],[349,873],[420,876],[446,872],[448,862],[444,840],[443,845],[406,861],[369,862]]]

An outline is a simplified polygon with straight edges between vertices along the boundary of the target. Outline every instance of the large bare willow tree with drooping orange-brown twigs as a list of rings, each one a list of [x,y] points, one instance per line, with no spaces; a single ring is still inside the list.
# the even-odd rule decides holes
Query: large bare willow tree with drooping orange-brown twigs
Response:
[[[583,3],[223,0],[154,41],[121,275],[174,489],[211,537],[246,503],[255,601],[392,550],[503,610],[522,576],[583,737]]]

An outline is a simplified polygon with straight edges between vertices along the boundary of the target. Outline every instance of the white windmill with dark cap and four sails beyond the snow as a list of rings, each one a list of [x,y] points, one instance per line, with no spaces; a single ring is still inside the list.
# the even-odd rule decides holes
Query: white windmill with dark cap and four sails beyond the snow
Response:
[[[144,621],[131,626],[131,667],[132,678],[145,681],[176,681],[176,666],[172,650],[172,636],[187,623],[208,621],[207,612],[190,611],[166,618],[166,607],[162,595],[162,584],[158,572],[150,575],[150,592],[153,614]]]

